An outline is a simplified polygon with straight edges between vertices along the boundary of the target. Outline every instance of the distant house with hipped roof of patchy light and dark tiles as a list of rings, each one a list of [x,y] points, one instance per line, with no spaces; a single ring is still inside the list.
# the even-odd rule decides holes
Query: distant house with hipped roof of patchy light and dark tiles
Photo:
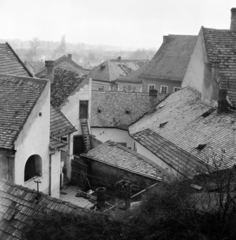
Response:
[[[123,60],[121,57],[118,57],[117,59],[110,59],[101,63],[92,69],[88,75],[88,78],[92,78],[92,90],[118,90],[119,84],[116,84],[117,79],[139,69],[147,62],[148,60]],[[127,91],[136,92],[140,90],[136,89],[136,85],[128,85],[123,84],[122,88],[125,87]],[[121,86],[119,90],[121,90]]]

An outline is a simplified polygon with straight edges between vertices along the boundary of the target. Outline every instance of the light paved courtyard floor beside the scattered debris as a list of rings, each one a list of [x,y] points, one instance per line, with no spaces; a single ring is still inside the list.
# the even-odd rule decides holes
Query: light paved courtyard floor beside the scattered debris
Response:
[[[71,202],[81,208],[90,208],[93,206],[93,203],[91,203],[88,199],[83,197],[76,197],[75,195],[77,192],[77,186],[64,186],[60,193],[60,199],[62,201]]]

